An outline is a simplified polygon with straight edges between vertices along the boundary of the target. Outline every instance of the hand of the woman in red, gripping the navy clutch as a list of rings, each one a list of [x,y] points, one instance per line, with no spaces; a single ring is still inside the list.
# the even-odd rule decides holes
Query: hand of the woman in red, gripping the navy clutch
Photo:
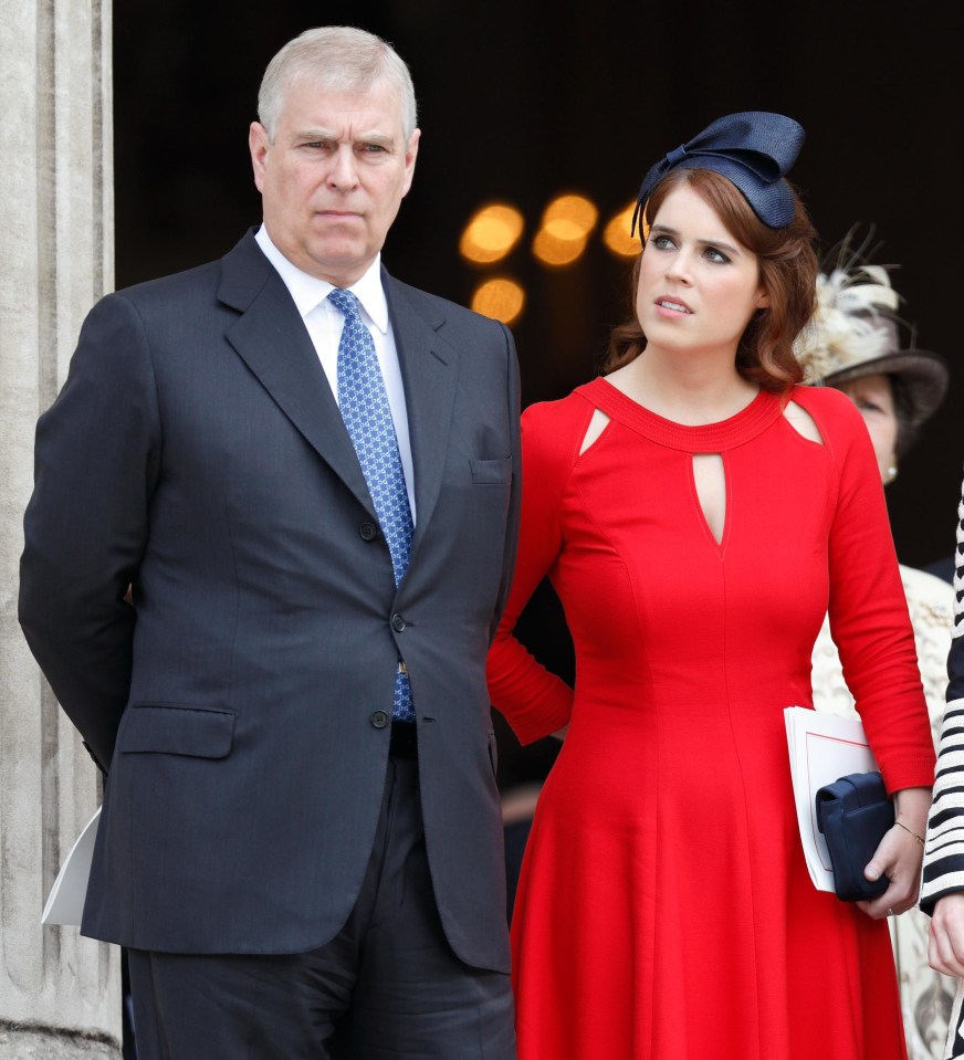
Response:
[[[928,827],[931,789],[904,788],[894,795],[893,801],[897,821],[888,829],[863,870],[868,880],[879,880],[886,875],[890,886],[873,901],[857,903],[874,920],[895,916],[909,910],[916,904],[921,886],[923,835]]]

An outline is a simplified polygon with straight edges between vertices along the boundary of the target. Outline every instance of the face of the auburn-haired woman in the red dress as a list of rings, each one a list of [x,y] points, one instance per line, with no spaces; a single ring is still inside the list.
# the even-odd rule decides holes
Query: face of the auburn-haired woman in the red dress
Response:
[[[726,350],[769,304],[756,255],[730,234],[713,208],[685,185],[652,219],[636,312],[647,349]]]

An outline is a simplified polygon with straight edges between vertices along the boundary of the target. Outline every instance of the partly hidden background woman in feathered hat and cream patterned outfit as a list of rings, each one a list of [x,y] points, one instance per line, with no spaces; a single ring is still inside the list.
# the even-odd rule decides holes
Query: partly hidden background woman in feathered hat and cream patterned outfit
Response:
[[[865,244],[866,246],[866,244]],[[842,390],[860,410],[884,484],[914,444],[921,426],[947,391],[947,367],[935,354],[901,348],[894,316],[899,298],[884,269],[865,248],[843,243],[835,265],[817,279],[817,311],[797,342],[807,381]],[[954,592],[924,570],[901,566],[918,663],[934,743],[944,714]],[[814,648],[814,706],[852,715],[853,697],[824,622]],[[928,964],[930,919],[918,909],[890,922],[911,1060],[941,1060],[954,997],[953,980]]]

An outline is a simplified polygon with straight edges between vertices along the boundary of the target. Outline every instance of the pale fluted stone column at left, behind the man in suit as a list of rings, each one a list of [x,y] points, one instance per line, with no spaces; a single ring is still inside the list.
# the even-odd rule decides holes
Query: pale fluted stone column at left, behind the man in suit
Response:
[[[0,0],[0,1060],[116,1060],[116,947],[40,924],[96,770],[17,622],[34,424],[114,280],[111,0]]]

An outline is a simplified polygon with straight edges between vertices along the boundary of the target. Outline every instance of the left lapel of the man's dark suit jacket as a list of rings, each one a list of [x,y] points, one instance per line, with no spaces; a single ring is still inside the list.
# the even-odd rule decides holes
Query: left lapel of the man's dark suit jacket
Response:
[[[250,233],[222,260],[222,302],[241,311],[227,338],[284,414],[375,517],[362,468],[304,323]]]

